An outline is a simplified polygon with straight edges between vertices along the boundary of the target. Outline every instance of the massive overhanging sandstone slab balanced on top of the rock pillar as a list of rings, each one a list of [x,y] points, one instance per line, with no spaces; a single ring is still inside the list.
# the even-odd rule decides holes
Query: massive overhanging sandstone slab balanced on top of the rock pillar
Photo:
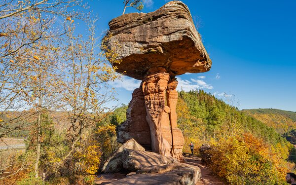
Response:
[[[202,73],[212,61],[204,48],[188,7],[171,1],[150,13],[130,13],[112,19],[109,49],[117,54],[116,72],[143,80],[151,68],[170,76]]]

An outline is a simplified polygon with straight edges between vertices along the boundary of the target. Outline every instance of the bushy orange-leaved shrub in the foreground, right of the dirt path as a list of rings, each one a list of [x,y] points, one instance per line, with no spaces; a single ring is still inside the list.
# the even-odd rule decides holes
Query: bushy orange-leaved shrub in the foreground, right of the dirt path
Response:
[[[213,172],[229,184],[286,184],[288,163],[274,147],[250,133],[213,140],[209,153],[212,155]]]

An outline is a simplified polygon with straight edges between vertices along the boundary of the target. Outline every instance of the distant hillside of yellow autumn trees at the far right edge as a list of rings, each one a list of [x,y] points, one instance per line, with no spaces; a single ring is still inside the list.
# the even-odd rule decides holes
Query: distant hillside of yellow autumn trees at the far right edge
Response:
[[[296,129],[296,112],[293,111],[251,109],[243,110],[243,112],[274,128],[280,134]]]

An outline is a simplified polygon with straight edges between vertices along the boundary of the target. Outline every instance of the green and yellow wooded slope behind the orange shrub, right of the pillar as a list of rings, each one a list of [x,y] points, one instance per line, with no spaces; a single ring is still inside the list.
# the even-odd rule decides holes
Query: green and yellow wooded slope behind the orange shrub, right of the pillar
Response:
[[[179,109],[188,109],[193,126],[203,129],[202,138],[210,139],[233,131],[250,132],[270,144],[286,143],[276,131],[204,91],[180,92]],[[184,108],[179,110],[179,125],[183,125]],[[236,130],[237,129],[237,130]]]

